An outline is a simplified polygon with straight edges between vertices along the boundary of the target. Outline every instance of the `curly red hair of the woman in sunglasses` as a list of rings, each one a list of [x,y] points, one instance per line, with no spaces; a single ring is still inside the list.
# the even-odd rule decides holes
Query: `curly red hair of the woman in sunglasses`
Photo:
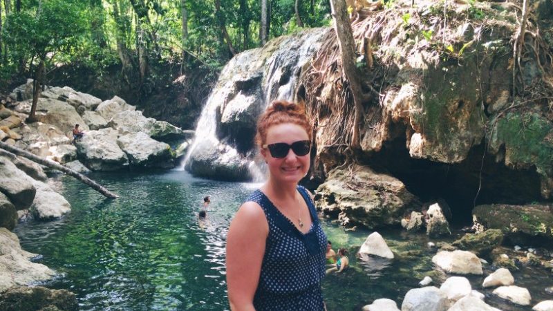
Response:
[[[262,113],[257,120],[255,142],[259,146],[265,144],[269,128],[284,123],[297,124],[303,127],[309,136],[309,140],[311,140],[312,128],[303,105],[294,102],[286,102],[285,100],[275,100],[265,109],[265,112]]]

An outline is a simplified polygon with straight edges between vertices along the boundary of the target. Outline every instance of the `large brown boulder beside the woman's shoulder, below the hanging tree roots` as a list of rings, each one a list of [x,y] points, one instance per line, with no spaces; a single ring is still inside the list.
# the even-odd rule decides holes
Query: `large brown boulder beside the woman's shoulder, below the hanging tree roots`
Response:
[[[370,228],[399,225],[407,208],[418,204],[403,182],[369,167],[333,169],[317,189],[317,207],[342,223]]]

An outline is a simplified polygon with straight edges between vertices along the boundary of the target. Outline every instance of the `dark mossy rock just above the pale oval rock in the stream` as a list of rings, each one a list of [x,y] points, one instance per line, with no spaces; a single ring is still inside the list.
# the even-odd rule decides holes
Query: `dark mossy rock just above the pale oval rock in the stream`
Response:
[[[452,245],[459,249],[468,250],[478,256],[486,256],[492,249],[503,242],[503,232],[500,229],[489,229],[479,234],[465,234]]]

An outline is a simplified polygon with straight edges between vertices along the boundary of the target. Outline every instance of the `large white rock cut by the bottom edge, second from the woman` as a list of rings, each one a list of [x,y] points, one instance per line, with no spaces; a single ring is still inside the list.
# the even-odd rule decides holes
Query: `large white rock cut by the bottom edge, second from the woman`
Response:
[[[402,311],[446,311],[448,308],[446,294],[435,286],[409,290],[402,303]]]

